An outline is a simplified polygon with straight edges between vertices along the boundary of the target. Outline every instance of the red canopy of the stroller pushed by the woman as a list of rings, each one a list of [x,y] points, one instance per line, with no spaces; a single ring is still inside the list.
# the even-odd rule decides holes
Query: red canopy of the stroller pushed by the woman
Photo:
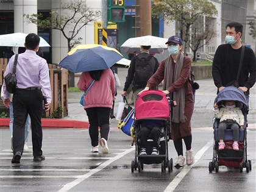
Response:
[[[170,118],[169,102],[163,91],[143,91],[135,104],[135,118]]]

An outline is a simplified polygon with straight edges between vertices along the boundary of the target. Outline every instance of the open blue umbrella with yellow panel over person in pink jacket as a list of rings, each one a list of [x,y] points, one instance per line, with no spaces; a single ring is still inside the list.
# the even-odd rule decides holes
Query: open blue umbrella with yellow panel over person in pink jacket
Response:
[[[114,48],[101,44],[81,44],[68,52],[58,66],[73,73],[108,69],[123,59],[123,55]]]

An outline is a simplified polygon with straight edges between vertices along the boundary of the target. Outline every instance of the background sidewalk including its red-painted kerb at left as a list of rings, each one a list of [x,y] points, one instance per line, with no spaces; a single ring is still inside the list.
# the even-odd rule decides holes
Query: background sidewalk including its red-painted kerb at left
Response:
[[[126,80],[128,68],[118,68],[118,77],[122,87],[118,87],[118,95],[116,96],[114,113],[118,110],[118,102],[122,101],[121,93],[123,92],[123,85]],[[216,98],[216,87],[213,84],[213,79],[196,80],[200,85],[199,90],[196,91],[196,99],[194,104],[194,113],[212,113],[213,102]],[[160,88],[161,89],[161,88]],[[84,107],[79,104],[82,92],[68,93],[68,116],[63,119],[42,119],[43,127],[67,127],[67,128],[88,128],[88,118]],[[250,90],[249,100],[249,115],[248,122],[256,123],[256,86]],[[131,105],[134,107],[133,105]],[[9,126],[9,121],[1,120],[0,126]],[[110,120],[111,127],[117,127],[118,121],[116,119]]]

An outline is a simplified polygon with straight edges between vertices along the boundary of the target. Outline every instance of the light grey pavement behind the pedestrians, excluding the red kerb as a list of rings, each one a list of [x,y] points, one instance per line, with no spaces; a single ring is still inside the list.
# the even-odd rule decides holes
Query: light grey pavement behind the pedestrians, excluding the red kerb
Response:
[[[118,102],[121,101],[121,93],[123,91],[124,82],[126,80],[128,68],[118,68],[118,77],[121,82],[121,87],[117,89],[118,96],[116,96],[116,104],[114,113],[118,110]],[[213,83],[213,79],[196,80],[199,83],[200,88],[196,91],[196,102],[194,105],[194,121],[192,121],[192,127],[200,127],[200,123],[196,119],[200,119],[202,116],[210,118],[212,116],[213,102],[216,97],[216,87]],[[79,104],[82,92],[68,93],[68,116],[65,119],[75,119],[79,121],[88,121],[84,108]],[[249,101],[249,115],[247,116],[248,122],[256,123],[256,86],[251,88],[250,101]],[[132,105],[132,107],[134,107]],[[196,119],[195,119],[196,118]],[[210,121],[209,121],[210,122]],[[210,122],[211,123],[211,122]],[[209,123],[209,126],[211,124]],[[112,127],[117,127],[117,121],[111,119]]]

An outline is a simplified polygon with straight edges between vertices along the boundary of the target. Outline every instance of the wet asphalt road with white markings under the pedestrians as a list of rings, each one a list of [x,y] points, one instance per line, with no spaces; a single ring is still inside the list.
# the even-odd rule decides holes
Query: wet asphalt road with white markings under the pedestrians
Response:
[[[124,76],[121,71],[119,76]],[[124,83],[124,77],[121,84]],[[87,129],[44,129],[43,153],[46,160],[33,162],[31,138],[29,150],[24,151],[20,165],[14,165],[7,127],[0,129],[0,191],[256,191],[256,117],[255,88],[251,93],[251,113],[247,119],[247,158],[252,171],[220,166],[219,172],[209,173],[208,163],[213,157],[212,105],[216,96],[212,80],[200,80],[191,121],[192,147],[196,163],[172,172],[161,172],[161,165],[144,165],[142,172],[131,172],[135,148],[131,137],[112,130],[109,154],[91,154]],[[121,88],[118,88],[120,94]],[[80,99],[80,97],[79,97]],[[74,104],[74,108],[76,108]],[[71,109],[71,107],[69,107]],[[79,109],[80,110],[80,109]],[[81,110],[84,114],[84,111]],[[82,116],[82,118],[84,118]],[[82,119],[81,118],[81,119]],[[175,162],[176,152],[168,142],[169,159]]]

